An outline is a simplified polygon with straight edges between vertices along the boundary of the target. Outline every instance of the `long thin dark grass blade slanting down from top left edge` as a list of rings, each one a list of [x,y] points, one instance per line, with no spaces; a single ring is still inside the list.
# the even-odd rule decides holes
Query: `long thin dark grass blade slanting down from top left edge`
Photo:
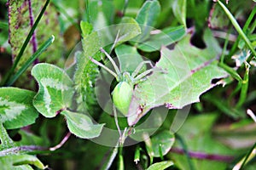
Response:
[[[22,44],[22,47],[20,48],[19,54],[16,56],[14,65],[12,65],[12,67],[11,67],[10,70],[9,70],[9,72],[8,72],[8,73],[6,74],[6,76],[3,78],[3,82],[1,83],[1,85],[6,84],[6,82],[8,82],[8,80],[9,80],[9,77],[11,77],[11,75],[14,73],[15,68],[16,68],[16,66],[17,66],[18,63],[19,63],[20,58],[21,58],[22,54],[24,53],[24,51],[25,51],[25,49],[26,49],[26,46],[27,46],[28,42],[30,41],[30,39],[31,39],[31,37],[32,37],[33,32],[36,30],[39,21],[40,21],[41,18],[43,17],[44,11],[46,10],[48,4],[49,4],[49,0],[47,0],[46,3],[44,3],[44,7],[42,8],[40,14],[38,15],[38,18],[37,18],[37,20],[35,21],[34,25],[32,26],[32,29],[29,31],[29,33],[28,33],[28,35],[27,35],[27,37],[26,37],[25,42]]]

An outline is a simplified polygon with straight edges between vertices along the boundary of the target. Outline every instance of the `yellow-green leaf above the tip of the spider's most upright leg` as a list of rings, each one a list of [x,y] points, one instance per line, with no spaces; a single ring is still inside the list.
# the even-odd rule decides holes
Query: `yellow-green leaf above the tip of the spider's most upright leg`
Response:
[[[136,20],[124,17],[116,26],[116,32],[118,33],[116,43],[119,44],[137,37],[142,31]]]

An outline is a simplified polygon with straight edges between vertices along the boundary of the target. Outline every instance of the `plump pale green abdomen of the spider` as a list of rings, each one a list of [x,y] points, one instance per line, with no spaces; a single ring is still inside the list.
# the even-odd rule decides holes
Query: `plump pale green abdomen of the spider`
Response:
[[[113,89],[113,104],[124,115],[129,111],[133,88],[127,82],[119,82]]]

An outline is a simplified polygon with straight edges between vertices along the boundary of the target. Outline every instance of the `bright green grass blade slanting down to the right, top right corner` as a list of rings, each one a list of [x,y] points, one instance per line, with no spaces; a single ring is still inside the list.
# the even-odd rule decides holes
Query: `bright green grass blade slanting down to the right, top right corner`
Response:
[[[230,18],[231,23],[233,24],[233,26],[236,28],[236,31],[238,31],[239,35],[241,36],[241,38],[247,43],[248,48],[250,48],[250,50],[252,51],[252,54],[254,56],[256,56],[256,51],[253,48],[252,43],[249,41],[249,39],[247,38],[247,36],[245,35],[245,33],[241,30],[241,27],[239,26],[239,24],[237,23],[235,17],[230,13],[230,10],[228,8],[226,8],[224,6],[223,3],[221,3],[220,1],[218,1],[218,4],[221,6],[221,8],[224,9],[224,12],[228,15],[228,17]],[[248,58],[248,61],[250,61],[250,59],[252,59],[252,55],[250,58]]]

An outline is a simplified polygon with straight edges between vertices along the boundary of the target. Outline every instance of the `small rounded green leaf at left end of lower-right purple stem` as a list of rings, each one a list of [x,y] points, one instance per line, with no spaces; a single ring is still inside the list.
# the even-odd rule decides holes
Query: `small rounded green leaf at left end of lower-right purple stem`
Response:
[[[154,157],[165,156],[174,144],[174,135],[170,131],[162,131],[151,138]],[[161,152],[161,154],[160,154]]]

